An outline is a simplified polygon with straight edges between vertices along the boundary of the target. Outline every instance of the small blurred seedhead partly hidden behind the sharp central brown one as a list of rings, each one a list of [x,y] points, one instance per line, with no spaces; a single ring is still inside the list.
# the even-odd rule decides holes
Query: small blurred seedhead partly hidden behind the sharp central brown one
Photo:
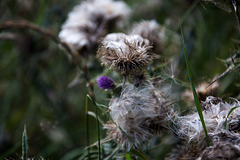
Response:
[[[132,29],[132,34],[141,35],[150,41],[155,53],[160,53],[162,49],[162,43],[159,36],[160,26],[156,20],[142,21],[135,24]]]

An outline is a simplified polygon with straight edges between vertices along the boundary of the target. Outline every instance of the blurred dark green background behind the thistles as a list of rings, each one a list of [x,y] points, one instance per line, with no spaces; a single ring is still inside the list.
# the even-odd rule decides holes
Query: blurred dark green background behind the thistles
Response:
[[[52,30],[57,36],[68,12],[79,2],[1,0],[0,23],[28,20]],[[237,20],[234,12],[229,12],[232,6],[228,2],[226,6],[229,8],[191,0],[125,2],[132,9],[126,28],[142,19],[156,19],[179,35],[182,25],[196,86],[211,82],[227,69],[217,58],[227,59],[239,53]],[[189,83],[181,38],[177,40],[180,47],[172,50],[171,44],[166,43],[162,57],[173,59],[176,63],[175,78]],[[89,69],[93,82],[102,70],[100,66]],[[84,109],[88,88],[87,82],[79,77],[79,72],[67,54],[48,37],[27,28],[0,30],[0,159],[20,159],[24,124],[27,127],[30,157],[74,159],[83,152],[87,144]],[[160,73],[152,75],[158,76]],[[78,83],[69,85],[74,79],[78,79]],[[218,96],[240,98],[239,70],[221,78],[219,83]],[[187,89],[174,86],[176,89],[172,91],[177,95]],[[97,102],[107,105],[109,93],[98,89],[96,82],[94,90]],[[91,103],[89,108],[93,110]],[[107,120],[104,116],[103,119]],[[92,144],[97,141],[97,134],[95,118],[91,116],[89,127]],[[103,138],[104,135],[103,130]],[[157,152],[149,152],[151,159],[162,159],[171,151],[171,144],[164,145],[165,141],[158,146]]]

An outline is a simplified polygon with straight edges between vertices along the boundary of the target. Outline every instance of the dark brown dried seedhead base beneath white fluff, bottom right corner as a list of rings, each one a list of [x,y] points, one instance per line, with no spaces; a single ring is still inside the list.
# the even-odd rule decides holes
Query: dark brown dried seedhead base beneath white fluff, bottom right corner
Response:
[[[239,134],[228,131],[219,132],[211,135],[212,145],[208,148],[205,139],[197,143],[182,143],[169,154],[167,160],[172,159],[196,159],[196,160],[215,160],[235,158],[239,156]],[[231,148],[231,151],[229,150]],[[223,153],[221,153],[223,152]],[[229,156],[229,157],[227,157]],[[237,159],[236,159],[237,160]]]

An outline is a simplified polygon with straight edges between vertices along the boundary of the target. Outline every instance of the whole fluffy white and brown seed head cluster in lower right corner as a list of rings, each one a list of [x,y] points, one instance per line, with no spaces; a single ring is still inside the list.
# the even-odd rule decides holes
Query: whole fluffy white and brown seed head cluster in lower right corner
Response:
[[[224,102],[221,98],[209,96],[201,103],[203,117],[210,138],[211,147],[207,147],[203,127],[197,113],[178,117],[178,135],[188,141],[180,145],[181,152],[175,151],[170,159],[236,159],[240,153],[240,109],[235,109],[225,120],[229,111],[240,105],[238,100],[233,103]],[[230,158],[230,159],[231,159]],[[237,160],[237,159],[236,159]]]

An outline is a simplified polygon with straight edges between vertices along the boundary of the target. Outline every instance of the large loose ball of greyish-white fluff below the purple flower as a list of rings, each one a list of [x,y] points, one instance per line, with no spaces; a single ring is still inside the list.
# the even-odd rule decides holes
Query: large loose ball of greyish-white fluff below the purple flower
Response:
[[[128,150],[141,146],[153,133],[166,129],[173,116],[169,101],[151,85],[136,88],[129,84],[119,98],[111,100],[109,109],[118,126],[107,124],[108,136]]]

